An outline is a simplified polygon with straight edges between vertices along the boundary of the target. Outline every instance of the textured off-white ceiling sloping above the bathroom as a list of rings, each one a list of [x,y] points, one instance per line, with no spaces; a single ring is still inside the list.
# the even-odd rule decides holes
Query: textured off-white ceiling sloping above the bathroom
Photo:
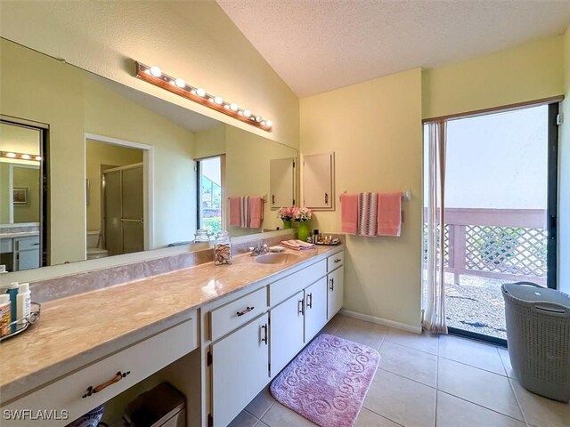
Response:
[[[570,1],[216,0],[298,96],[561,34]]]

